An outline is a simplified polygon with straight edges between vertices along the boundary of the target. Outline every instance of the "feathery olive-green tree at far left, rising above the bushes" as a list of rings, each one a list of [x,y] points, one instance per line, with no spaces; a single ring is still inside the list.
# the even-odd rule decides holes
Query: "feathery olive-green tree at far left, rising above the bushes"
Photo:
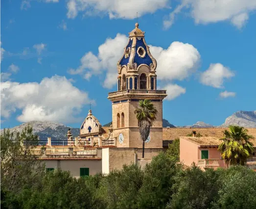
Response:
[[[25,127],[21,133],[4,130],[0,142],[1,187],[19,192],[23,186],[37,184],[44,175],[45,168],[33,151],[38,143],[38,136],[32,133],[32,128]]]

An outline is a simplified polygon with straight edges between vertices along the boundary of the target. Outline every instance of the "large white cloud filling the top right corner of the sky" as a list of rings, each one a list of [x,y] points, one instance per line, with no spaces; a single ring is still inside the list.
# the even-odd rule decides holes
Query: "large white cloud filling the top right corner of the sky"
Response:
[[[170,27],[174,17],[188,8],[196,24],[230,21],[237,28],[245,25],[249,14],[256,10],[256,0],[182,0],[181,4],[164,20],[165,28]]]

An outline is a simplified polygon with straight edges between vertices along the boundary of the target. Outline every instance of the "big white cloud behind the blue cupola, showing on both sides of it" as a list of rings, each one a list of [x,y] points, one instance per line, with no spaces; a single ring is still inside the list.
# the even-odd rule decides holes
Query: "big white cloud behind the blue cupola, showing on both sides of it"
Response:
[[[116,85],[117,68],[116,63],[123,54],[123,47],[126,46],[128,37],[117,34],[114,39],[108,38],[105,43],[99,46],[98,54],[87,52],[80,59],[80,66],[70,69],[71,75],[79,74],[89,80],[93,75],[100,75],[106,72],[103,87],[112,88]],[[162,47],[150,46],[150,52],[156,58],[158,67],[158,79],[165,81],[183,80],[196,71],[200,54],[190,44],[173,42],[165,50]]]

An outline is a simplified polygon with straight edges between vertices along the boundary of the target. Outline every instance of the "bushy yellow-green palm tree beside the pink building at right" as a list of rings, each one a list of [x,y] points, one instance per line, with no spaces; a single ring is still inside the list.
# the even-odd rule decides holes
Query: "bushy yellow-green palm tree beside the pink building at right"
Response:
[[[229,126],[229,131],[223,131],[224,137],[218,150],[222,158],[229,165],[245,165],[247,158],[254,153],[253,143],[249,140],[253,136],[247,134],[247,129],[239,126]]]

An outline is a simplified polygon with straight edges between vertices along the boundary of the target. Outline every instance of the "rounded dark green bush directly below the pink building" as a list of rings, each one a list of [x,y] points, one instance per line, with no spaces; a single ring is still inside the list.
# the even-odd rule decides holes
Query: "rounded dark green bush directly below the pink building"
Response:
[[[206,209],[218,196],[218,173],[212,169],[205,172],[196,166],[180,170],[171,188],[172,200],[167,209]]]

